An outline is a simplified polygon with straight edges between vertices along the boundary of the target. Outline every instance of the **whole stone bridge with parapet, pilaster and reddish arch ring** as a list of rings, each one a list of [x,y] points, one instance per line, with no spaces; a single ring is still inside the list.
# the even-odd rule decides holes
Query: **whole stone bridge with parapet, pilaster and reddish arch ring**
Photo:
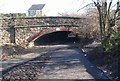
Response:
[[[78,17],[26,17],[1,20],[0,43],[16,43],[26,47],[40,36],[56,31],[79,32],[83,18]]]

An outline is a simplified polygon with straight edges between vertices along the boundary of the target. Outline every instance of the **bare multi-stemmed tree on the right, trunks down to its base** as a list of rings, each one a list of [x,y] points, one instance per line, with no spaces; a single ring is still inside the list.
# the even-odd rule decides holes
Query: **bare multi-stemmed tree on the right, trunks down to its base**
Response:
[[[100,27],[100,34],[101,34],[101,43],[104,51],[108,51],[109,49],[113,48],[113,43],[111,41],[113,41],[114,38],[116,37],[116,34],[118,34],[118,32],[113,33],[112,27],[115,26],[116,14],[119,10],[117,7],[117,9],[114,12],[111,12],[112,1],[113,0],[111,0],[108,3],[107,0],[102,0],[102,1],[93,0],[99,12],[99,27]],[[117,6],[118,5],[119,5],[119,2],[117,2]],[[111,13],[113,15],[111,15]]]

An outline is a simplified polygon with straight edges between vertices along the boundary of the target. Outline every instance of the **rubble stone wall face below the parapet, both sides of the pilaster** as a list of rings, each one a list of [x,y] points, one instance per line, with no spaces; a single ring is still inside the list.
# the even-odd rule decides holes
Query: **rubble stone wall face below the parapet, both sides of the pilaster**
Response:
[[[57,30],[58,28],[61,28],[62,30]],[[65,28],[67,27],[64,27],[64,30]],[[0,29],[0,33],[1,33],[0,44],[10,43],[10,34],[7,30],[8,30],[7,28]],[[64,31],[64,30],[63,30],[63,27],[16,28],[15,29],[15,42],[17,45],[26,47],[28,43],[30,43],[31,41],[33,42],[33,40],[30,40],[30,38],[35,36],[35,34],[39,33],[39,37],[40,37],[47,33],[55,32],[55,31]],[[76,28],[70,28],[69,30],[77,32]]]

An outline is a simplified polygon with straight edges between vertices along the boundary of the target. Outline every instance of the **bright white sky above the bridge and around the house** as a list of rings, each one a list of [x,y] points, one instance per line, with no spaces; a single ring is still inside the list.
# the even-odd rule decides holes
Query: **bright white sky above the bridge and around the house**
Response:
[[[32,4],[46,4],[46,15],[58,13],[81,13],[79,10],[92,0],[0,0],[0,13],[27,13]]]

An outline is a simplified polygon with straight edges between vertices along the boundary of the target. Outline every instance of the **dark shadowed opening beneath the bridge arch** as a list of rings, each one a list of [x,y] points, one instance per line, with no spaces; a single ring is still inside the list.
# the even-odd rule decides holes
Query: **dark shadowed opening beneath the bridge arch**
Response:
[[[55,45],[55,44],[66,44],[73,43],[77,41],[78,38],[70,37],[69,35],[73,33],[72,31],[55,31],[52,33],[47,33],[39,37],[34,41],[34,45]]]

